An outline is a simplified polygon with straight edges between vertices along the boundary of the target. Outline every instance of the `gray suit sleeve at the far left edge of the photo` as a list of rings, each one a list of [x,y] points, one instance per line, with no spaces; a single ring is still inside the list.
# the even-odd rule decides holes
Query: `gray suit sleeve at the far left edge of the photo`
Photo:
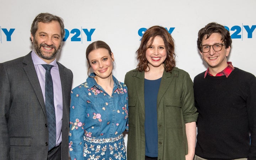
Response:
[[[10,159],[10,142],[8,131],[8,117],[11,106],[11,90],[7,70],[0,64],[0,157]]]

